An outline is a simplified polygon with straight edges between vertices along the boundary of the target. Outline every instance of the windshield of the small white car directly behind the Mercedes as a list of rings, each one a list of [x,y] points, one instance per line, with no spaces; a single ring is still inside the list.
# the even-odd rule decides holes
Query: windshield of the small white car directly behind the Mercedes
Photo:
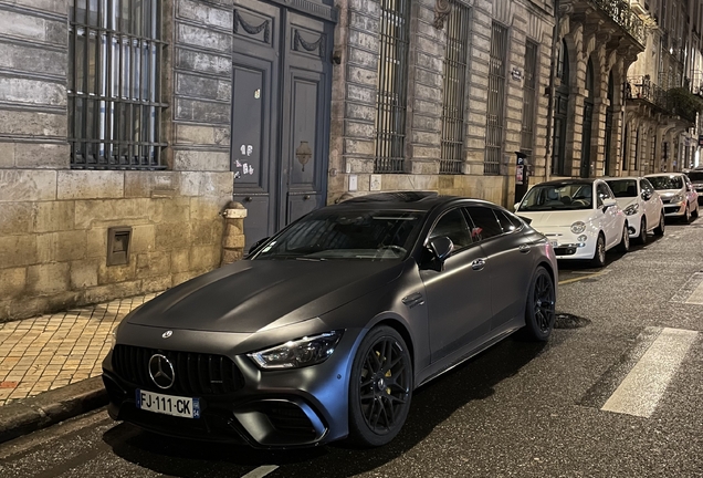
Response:
[[[518,211],[574,210],[592,208],[592,185],[568,183],[537,185],[527,191]]]

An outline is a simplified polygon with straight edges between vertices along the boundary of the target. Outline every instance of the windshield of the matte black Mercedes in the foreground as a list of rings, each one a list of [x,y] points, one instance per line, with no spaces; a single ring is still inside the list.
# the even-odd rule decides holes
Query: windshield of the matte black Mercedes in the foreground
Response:
[[[254,260],[398,260],[417,237],[423,212],[321,209],[286,228]]]

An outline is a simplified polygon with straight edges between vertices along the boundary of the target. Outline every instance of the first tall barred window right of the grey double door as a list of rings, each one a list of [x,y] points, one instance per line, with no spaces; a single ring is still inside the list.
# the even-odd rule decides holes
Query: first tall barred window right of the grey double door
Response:
[[[381,0],[376,173],[402,173],[406,149],[410,0]]]

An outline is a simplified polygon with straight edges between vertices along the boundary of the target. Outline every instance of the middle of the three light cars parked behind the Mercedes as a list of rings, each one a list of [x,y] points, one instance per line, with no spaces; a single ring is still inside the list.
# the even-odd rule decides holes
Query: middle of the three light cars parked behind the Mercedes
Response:
[[[647,233],[664,235],[664,206],[659,193],[643,177],[602,178],[628,218],[630,238],[647,243]]]

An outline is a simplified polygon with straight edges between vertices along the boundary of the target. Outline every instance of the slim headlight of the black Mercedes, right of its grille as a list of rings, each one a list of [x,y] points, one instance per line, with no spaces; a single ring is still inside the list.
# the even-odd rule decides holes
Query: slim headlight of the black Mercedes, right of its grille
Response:
[[[326,332],[252,352],[249,355],[261,368],[298,368],[326,361],[335,351],[343,331]]]

